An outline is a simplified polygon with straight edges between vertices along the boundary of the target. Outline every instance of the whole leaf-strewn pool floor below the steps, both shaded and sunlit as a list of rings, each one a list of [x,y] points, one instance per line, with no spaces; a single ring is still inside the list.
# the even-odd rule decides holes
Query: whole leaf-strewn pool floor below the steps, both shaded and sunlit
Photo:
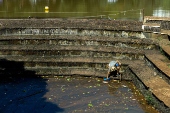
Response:
[[[0,83],[1,113],[156,113],[131,82],[89,77],[15,78]]]

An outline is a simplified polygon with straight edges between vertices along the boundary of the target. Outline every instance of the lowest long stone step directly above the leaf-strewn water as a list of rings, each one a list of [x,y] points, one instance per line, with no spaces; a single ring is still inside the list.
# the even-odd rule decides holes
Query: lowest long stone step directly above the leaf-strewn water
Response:
[[[7,68],[6,70],[0,69],[1,76],[89,76],[89,77],[105,77],[107,76],[108,69],[102,68],[85,68],[85,67],[26,67],[24,69]],[[123,75],[123,80],[131,80],[129,76],[124,75],[124,71],[120,71]],[[119,79],[119,77],[111,76],[111,78]]]

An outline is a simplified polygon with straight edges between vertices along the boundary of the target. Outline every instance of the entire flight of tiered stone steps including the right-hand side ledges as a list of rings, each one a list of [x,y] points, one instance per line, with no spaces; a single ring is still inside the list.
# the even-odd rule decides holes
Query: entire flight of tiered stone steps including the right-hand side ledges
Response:
[[[107,64],[119,60],[122,80],[132,80],[145,97],[151,92],[155,107],[170,111],[168,36],[146,37],[141,22],[35,19],[0,23],[1,76],[106,77]],[[160,30],[156,27],[156,32]]]

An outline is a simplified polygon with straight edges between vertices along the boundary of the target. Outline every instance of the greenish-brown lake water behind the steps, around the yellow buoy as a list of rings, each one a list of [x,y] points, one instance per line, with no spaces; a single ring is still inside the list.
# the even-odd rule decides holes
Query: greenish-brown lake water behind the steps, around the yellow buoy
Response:
[[[170,0],[0,0],[0,18],[108,18],[169,16]],[[45,13],[49,6],[49,13]],[[102,16],[101,16],[102,15]]]

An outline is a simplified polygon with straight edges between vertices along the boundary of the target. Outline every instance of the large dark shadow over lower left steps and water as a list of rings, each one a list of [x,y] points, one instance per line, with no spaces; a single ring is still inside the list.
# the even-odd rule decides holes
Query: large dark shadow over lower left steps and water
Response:
[[[49,101],[47,80],[24,69],[24,62],[0,59],[1,113],[56,113],[64,109]]]

